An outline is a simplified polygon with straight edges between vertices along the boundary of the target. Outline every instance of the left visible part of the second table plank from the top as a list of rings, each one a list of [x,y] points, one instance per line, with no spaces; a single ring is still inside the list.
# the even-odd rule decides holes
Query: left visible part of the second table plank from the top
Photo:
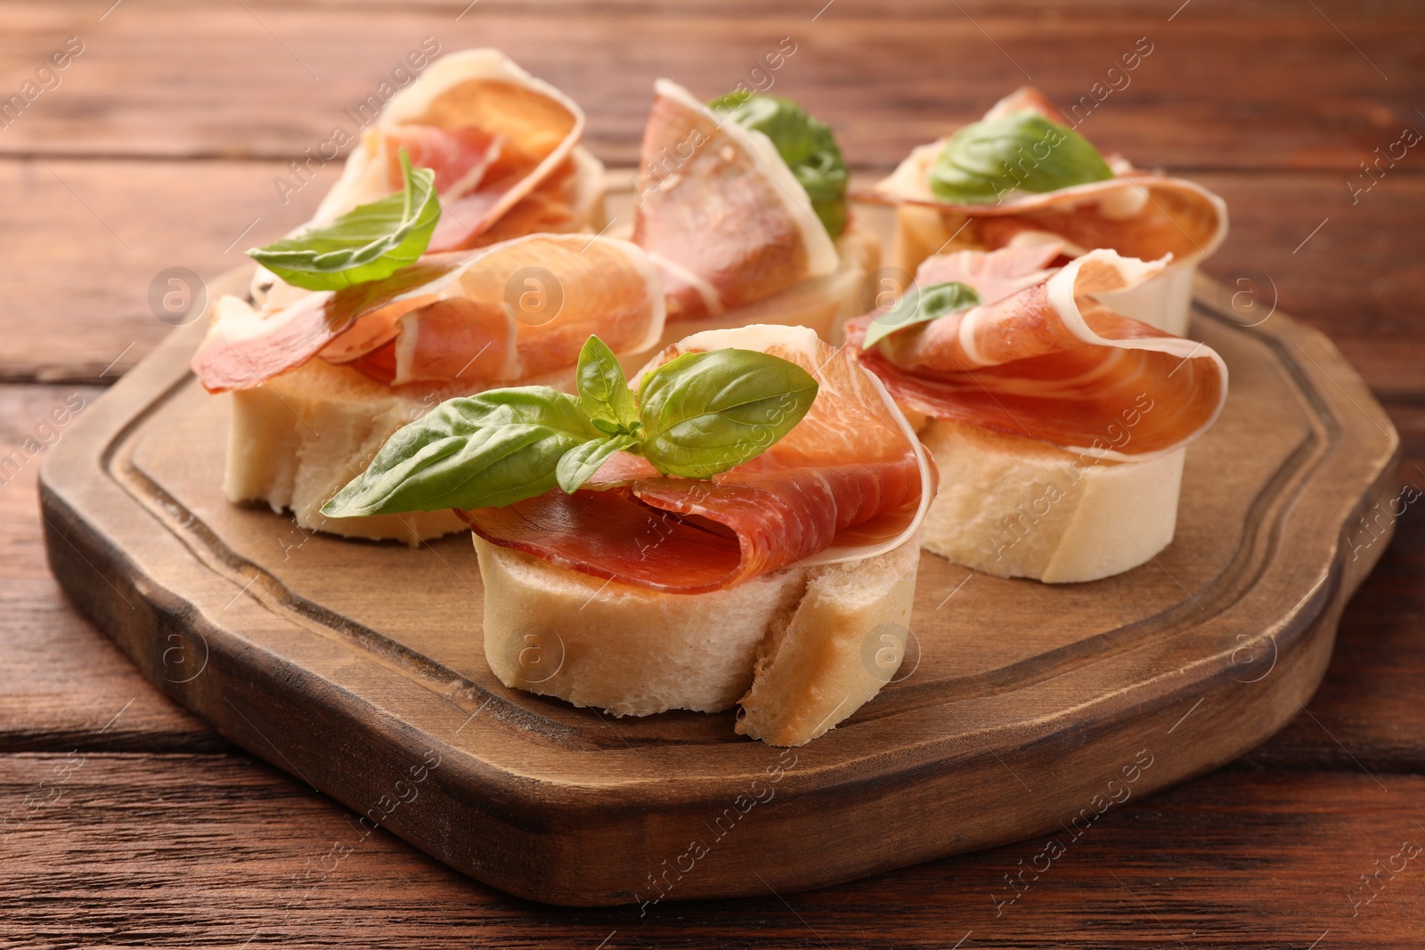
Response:
[[[0,162],[0,379],[110,383],[170,329],[160,320],[187,268],[211,279],[311,216],[336,169],[278,197],[276,162]],[[256,219],[256,224],[254,224]],[[247,234],[244,234],[247,231]],[[155,292],[158,308],[150,303]],[[197,315],[194,315],[194,319]],[[174,318],[170,318],[174,319]],[[177,319],[182,319],[181,316]]]

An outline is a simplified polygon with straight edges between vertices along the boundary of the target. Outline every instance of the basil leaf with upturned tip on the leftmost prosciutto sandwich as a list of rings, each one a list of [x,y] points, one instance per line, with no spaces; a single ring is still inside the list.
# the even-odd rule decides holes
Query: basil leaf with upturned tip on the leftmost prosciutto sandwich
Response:
[[[331,224],[282,238],[248,256],[279,278],[308,291],[339,291],[380,281],[415,263],[430,244],[440,219],[436,175],[412,168],[400,150],[406,187],[393,195],[358,205]]]

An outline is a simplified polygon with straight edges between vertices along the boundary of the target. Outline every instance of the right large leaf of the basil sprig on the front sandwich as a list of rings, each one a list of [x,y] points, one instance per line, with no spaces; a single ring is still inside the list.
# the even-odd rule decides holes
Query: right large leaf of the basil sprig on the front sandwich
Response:
[[[643,456],[664,474],[711,479],[791,432],[817,389],[811,373],[767,353],[684,353],[643,379]]]

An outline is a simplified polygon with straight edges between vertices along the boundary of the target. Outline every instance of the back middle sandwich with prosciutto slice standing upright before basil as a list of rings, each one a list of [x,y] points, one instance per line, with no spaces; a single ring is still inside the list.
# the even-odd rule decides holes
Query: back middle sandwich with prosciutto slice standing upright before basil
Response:
[[[663,272],[664,343],[705,329],[785,323],[832,342],[869,309],[879,239],[846,212],[831,130],[795,103],[731,93],[711,105],[654,87],[633,241]]]

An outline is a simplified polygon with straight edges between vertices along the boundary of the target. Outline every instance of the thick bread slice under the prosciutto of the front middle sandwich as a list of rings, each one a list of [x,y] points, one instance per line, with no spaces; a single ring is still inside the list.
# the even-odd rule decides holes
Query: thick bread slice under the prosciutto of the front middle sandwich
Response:
[[[603,581],[475,537],[484,655],[507,687],[618,716],[717,712],[737,731],[802,745],[895,675],[919,546],[789,567],[708,594]]]

